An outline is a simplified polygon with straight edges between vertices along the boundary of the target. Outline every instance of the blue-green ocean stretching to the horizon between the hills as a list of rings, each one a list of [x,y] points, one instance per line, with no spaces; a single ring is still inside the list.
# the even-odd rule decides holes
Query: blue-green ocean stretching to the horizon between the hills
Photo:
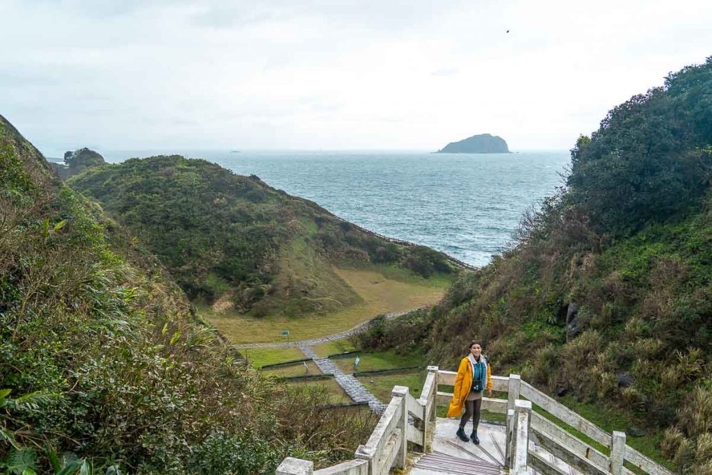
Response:
[[[179,153],[307,198],[385,236],[475,266],[511,245],[520,216],[563,184],[569,152],[100,151],[108,162]]]

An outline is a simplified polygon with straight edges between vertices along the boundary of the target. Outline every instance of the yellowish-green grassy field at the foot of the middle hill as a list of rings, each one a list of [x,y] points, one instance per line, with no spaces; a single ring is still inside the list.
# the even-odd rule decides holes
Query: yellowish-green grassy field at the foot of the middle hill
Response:
[[[197,305],[199,314],[216,326],[233,343],[282,342],[282,330],[290,340],[305,340],[340,333],[370,320],[380,313],[392,313],[431,305],[444,295],[450,280],[446,276],[429,279],[409,275],[387,266],[368,269],[334,268],[362,298],[349,308],[328,315],[285,317],[267,315],[253,318],[232,310],[216,313],[210,306]]]

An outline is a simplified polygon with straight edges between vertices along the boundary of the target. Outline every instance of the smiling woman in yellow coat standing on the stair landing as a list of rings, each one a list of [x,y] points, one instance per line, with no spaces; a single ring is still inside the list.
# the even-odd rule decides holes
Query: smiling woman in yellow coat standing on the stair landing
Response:
[[[468,355],[460,362],[455,377],[455,390],[447,411],[447,417],[457,417],[465,407],[465,413],[460,419],[457,437],[464,442],[480,443],[477,437],[477,426],[480,422],[480,407],[482,406],[482,391],[492,391],[492,370],[487,357],[482,354],[482,346],[473,341],[468,347]],[[472,433],[465,435],[465,424],[472,417]]]

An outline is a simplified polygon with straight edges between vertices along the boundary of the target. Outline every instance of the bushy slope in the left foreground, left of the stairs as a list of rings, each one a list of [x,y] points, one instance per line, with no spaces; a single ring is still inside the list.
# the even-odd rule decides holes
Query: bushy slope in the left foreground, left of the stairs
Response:
[[[0,116],[0,471],[258,474],[288,454],[328,464],[372,427],[328,419],[319,401],[236,361],[158,261]]]

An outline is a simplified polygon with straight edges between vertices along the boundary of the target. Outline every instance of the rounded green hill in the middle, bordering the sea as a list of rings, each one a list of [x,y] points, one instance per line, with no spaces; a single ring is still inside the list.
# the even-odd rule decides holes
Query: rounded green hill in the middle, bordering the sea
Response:
[[[382,264],[428,277],[444,254],[369,234],[305,199],[179,156],[132,159],[75,177],[169,268],[189,298],[251,315],[328,313],[360,301],[333,266]]]

